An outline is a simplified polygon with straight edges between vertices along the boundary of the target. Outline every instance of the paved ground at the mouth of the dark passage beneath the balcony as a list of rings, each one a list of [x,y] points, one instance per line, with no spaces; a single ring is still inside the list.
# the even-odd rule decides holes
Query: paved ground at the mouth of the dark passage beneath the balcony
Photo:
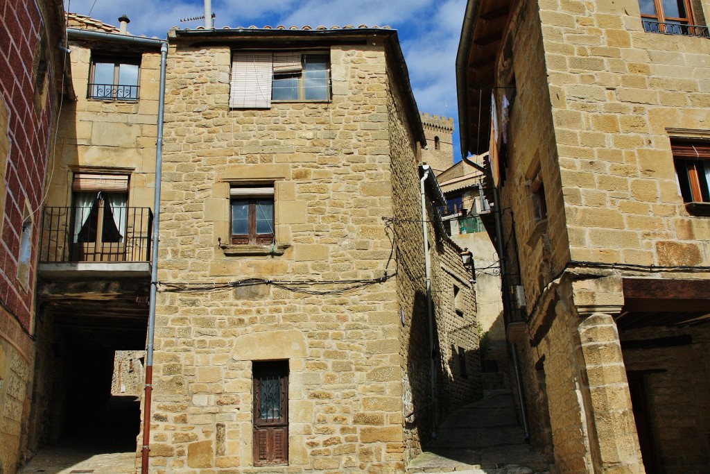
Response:
[[[136,453],[92,453],[73,446],[48,446],[21,474],[135,474]]]

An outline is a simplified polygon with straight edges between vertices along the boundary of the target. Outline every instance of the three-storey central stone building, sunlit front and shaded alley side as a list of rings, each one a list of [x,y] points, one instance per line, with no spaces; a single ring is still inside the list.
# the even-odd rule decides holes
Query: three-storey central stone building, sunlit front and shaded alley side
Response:
[[[168,41],[151,472],[402,472],[480,387],[396,32]]]

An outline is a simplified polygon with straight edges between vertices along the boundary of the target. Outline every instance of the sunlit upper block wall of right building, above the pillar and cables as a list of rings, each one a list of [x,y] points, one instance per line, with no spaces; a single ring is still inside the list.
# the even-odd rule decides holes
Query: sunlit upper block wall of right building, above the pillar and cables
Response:
[[[707,42],[643,31],[635,0],[540,18],[572,259],[708,264],[710,221],[686,210],[670,152],[679,129],[707,129]]]

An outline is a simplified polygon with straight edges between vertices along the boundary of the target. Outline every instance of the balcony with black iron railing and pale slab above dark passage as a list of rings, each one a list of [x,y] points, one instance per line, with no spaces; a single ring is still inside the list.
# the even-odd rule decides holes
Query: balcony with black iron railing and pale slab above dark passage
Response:
[[[46,207],[40,229],[40,275],[150,274],[150,208]]]

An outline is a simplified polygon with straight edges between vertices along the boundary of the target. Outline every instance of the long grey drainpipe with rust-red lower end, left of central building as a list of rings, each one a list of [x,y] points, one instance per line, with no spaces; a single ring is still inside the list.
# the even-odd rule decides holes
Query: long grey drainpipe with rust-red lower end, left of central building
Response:
[[[141,474],[148,474],[151,451],[151,402],[153,395],[153,339],[155,338],[155,297],[158,295],[158,237],[160,224],[160,181],[163,168],[163,111],[165,110],[165,63],[168,42],[160,45],[160,92],[158,97],[158,137],[155,140],[155,200],[153,201],[153,246],[151,249],[151,306],[148,310],[148,338],[146,343],[146,397],[143,402],[143,446],[141,446]]]

